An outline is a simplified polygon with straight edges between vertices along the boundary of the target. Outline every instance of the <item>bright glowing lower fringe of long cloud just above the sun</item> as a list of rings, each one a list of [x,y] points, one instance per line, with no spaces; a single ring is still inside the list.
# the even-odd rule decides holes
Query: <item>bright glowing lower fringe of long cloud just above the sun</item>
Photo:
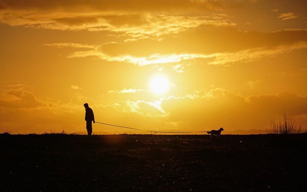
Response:
[[[268,49],[265,47],[255,48],[255,49],[245,49],[238,52],[226,52],[226,53],[214,53],[214,54],[196,54],[196,53],[186,53],[186,54],[171,54],[171,55],[162,55],[162,54],[153,54],[149,57],[133,57],[131,55],[124,55],[118,57],[112,57],[110,55],[101,53],[98,48],[87,50],[87,51],[76,51],[68,56],[68,58],[78,58],[78,57],[88,57],[96,56],[100,59],[106,61],[120,61],[126,63],[133,63],[136,65],[144,66],[150,64],[160,64],[160,63],[178,63],[182,60],[189,59],[211,59],[207,63],[209,65],[230,65],[235,62],[251,62],[262,57],[270,57],[281,53],[291,52],[295,49],[304,49],[307,48],[307,43],[301,42],[294,45],[281,45],[274,49]],[[173,70],[176,72],[183,72],[183,66],[175,65]]]

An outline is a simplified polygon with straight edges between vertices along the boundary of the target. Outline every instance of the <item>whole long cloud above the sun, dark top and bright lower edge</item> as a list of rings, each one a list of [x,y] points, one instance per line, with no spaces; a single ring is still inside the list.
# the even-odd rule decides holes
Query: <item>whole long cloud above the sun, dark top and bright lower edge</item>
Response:
[[[219,42],[223,42],[223,45],[221,46]],[[51,43],[48,45],[65,47],[71,44]],[[147,45],[151,46],[148,49],[139,49]],[[178,63],[183,60],[202,58],[207,59],[209,65],[230,65],[304,49],[306,45],[307,30],[305,29],[285,29],[271,33],[259,33],[240,32],[232,29],[213,32],[199,28],[182,32],[175,37],[165,36],[161,40],[141,39],[123,43],[85,45],[90,48],[75,51],[67,57],[95,56],[106,61],[127,62],[140,66]]]

